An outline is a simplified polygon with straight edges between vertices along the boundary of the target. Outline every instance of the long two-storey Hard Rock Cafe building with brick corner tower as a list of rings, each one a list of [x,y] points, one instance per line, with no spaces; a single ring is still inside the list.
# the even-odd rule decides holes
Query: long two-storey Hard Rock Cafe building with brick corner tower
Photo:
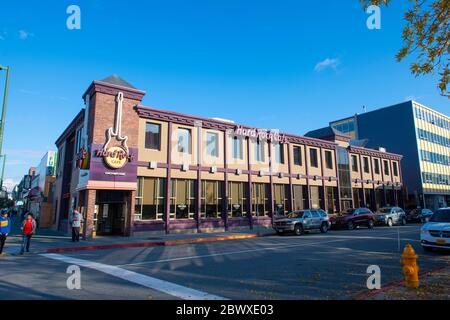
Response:
[[[204,232],[272,225],[293,210],[401,205],[401,156],[335,130],[306,137],[141,105],[108,77],[56,141],[54,227],[83,233]]]

